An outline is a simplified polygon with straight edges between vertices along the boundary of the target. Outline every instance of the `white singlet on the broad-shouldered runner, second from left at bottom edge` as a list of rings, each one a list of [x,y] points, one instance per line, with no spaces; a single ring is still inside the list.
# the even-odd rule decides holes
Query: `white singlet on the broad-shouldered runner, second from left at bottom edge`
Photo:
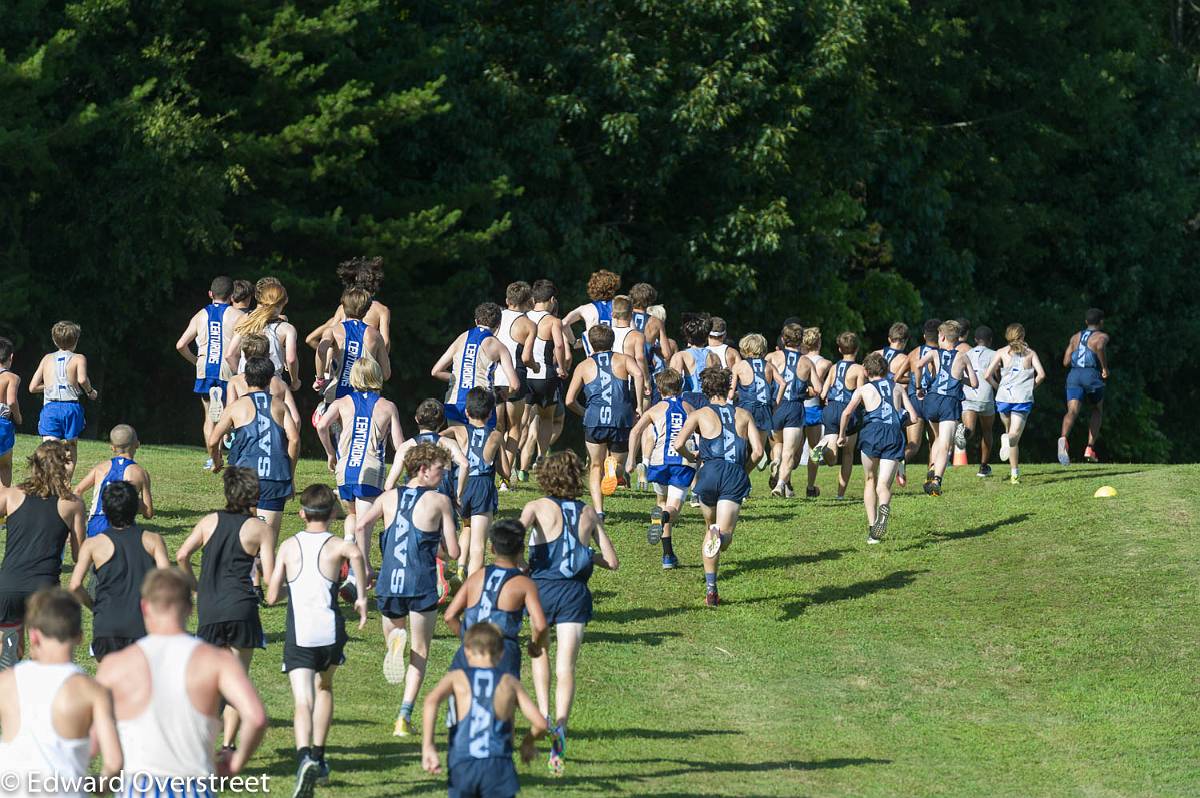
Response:
[[[150,666],[150,703],[137,718],[116,721],[125,773],[209,775],[221,724],[187,695],[187,664],[200,641],[185,634],[146,635],[136,644]]]

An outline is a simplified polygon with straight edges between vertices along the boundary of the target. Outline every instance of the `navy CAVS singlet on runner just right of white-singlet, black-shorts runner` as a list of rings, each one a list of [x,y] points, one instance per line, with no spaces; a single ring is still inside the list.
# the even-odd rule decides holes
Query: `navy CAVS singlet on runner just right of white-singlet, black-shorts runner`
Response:
[[[437,595],[438,545],[440,529],[420,529],[413,521],[416,503],[432,488],[397,487],[396,517],[379,533],[383,564],[376,581],[376,595],[408,598]]]

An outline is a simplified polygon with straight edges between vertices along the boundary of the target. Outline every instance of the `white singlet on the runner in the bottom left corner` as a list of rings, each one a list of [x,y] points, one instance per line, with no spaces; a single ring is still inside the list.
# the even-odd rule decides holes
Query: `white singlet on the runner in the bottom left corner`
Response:
[[[62,662],[43,665],[26,660],[13,667],[17,680],[17,703],[20,707],[20,728],[11,743],[0,743],[0,773],[19,775],[16,790],[4,788],[8,798],[25,796],[83,796],[83,792],[47,792],[30,790],[31,776],[38,782],[56,775],[59,779],[79,779],[88,773],[91,739],[64,739],[54,731],[52,707],[62,684],[76,673],[76,665]],[[11,776],[10,776],[11,778]]]

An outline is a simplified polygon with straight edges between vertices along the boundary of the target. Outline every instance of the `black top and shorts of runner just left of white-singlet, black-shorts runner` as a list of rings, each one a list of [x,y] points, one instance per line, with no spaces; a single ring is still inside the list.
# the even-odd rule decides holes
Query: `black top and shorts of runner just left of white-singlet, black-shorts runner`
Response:
[[[265,648],[258,596],[251,584],[254,556],[241,544],[245,514],[218,511],[200,556],[196,636],[222,648]]]

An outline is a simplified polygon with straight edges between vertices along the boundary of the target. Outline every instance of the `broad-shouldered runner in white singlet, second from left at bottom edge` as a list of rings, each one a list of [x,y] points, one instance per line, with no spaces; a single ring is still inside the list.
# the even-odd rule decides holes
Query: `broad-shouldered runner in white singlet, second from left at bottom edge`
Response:
[[[181,570],[146,575],[142,607],[146,636],[106,656],[96,672],[96,680],[113,692],[125,750],[121,794],[208,798],[214,794],[209,778],[216,773],[212,745],[221,702],[233,707],[241,722],[238,749],[221,751],[222,769],[232,775],[258,749],[266,710],[234,654],[184,631],[192,593]]]

